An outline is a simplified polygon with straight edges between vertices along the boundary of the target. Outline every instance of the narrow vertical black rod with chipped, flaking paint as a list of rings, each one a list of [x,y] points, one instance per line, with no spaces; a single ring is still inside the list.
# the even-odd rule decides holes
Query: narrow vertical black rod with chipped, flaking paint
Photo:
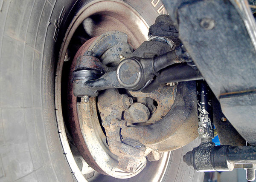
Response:
[[[201,142],[212,142],[214,138],[212,94],[205,80],[196,81],[198,99],[198,134]]]

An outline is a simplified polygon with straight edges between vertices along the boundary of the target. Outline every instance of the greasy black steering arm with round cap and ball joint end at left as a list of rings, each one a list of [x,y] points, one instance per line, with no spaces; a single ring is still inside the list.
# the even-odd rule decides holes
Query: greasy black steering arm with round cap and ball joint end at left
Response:
[[[88,60],[93,60],[93,65],[95,62],[97,65],[101,65],[96,57],[84,59],[87,61],[87,65],[90,65]],[[78,65],[78,69],[73,72],[74,94],[78,97],[84,95],[95,97],[98,91],[109,88],[140,91],[150,85],[151,82],[154,82],[153,86],[155,86],[168,82],[202,79],[197,69],[187,65],[186,62],[190,60],[185,55],[183,47],[177,46],[174,50],[160,56],[126,58],[119,63],[115,71],[105,72],[104,66],[81,68]],[[99,74],[100,72],[105,72],[105,74]],[[90,77],[89,74],[84,73],[90,73]],[[80,75],[85,76],[81,77]]]

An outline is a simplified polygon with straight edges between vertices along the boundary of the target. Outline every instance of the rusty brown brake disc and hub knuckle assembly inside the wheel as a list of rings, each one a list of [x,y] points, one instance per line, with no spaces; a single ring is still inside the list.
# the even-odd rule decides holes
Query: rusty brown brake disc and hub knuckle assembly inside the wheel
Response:
[[[89,42],[90,45],[87,43],[86,49],[92,50],[104,64],[116,66],[120,61],[119,54],[125,57],[131,54],[132,49],[127,41],[126,34],[111,31],[93,39]],[[87,50],[85,46],[83,48],[82,51],[79,49],[73,64],[84,59],[85,56],[82,55]],[[93,63],[93,68],[102,68],[103,64],[99,60],[90,56],[86,56],[87,58]],[[84,66],[88,67],[88,65]],[[74,65],[71,70],[73,69]],[[108,67],[105,67],[106,70]],[[128,178],[145,168],[146,156],[151,161],[159,160],[161,154],[158,152],[170,151],[186,145],[196,136],[193,135],[192,116],[195,103],[187,103],[193,100],[192,85],[192,83],[190,85],[181,83],[178,86],[161,85],[149,94],[127,92],[126,94],[137,97],[136,103],[133,103],[128,95],[119,94],[116,89],[102,91],[97,100],[90,98],[89,102],[78,101],[72,96],[70,117],[76,121],[70,119],[73,122],[71,128],[73,127],[74,140],[82,156],[100,173]],[[180,97],[175,100],[177,87],[180,88],[178,89]],[[72,89],[70,86],[69,88]],[[157,105],[154,105],[154,100]],[[175,102],[175,107],[172,107]],[[100,127],[97,108],[106,136]],[[73,113],[75,111],[77,114]],[[184,114],[184,111],[187,113]],[[148,122],[148,124],[139,126],[131,124],[133,122]],[[149,125],[152,123],[154,124]],[[187,132],[188,130],[190,132]],[[152,149],[158,152],[149,154]]]

